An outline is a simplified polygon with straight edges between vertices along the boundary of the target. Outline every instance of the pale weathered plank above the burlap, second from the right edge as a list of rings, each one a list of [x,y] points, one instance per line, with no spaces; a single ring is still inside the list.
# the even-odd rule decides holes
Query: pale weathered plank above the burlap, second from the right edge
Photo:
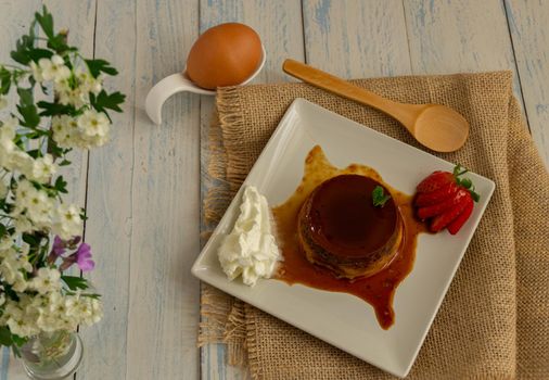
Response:
[[[500,0],[406,0],[404,5],[413,74],[515,71]],[[514,92],[522,101],[516,74]]]

